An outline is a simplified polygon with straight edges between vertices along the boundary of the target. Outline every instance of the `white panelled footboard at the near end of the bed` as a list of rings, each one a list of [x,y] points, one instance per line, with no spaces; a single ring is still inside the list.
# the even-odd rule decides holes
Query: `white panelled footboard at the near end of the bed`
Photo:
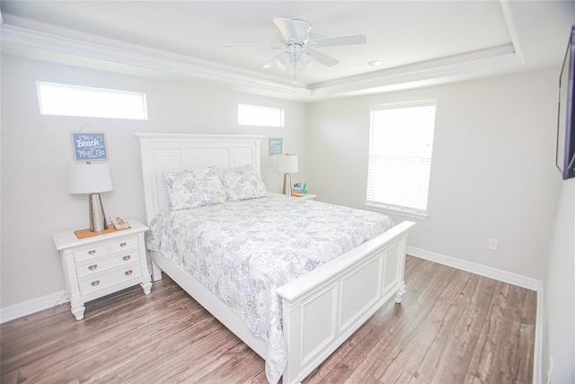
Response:
[[[411,227],[403,221],[349,253],[279,287],[288,344],[284,383],[303,380],[378,308],[402,299],[405,248]]]

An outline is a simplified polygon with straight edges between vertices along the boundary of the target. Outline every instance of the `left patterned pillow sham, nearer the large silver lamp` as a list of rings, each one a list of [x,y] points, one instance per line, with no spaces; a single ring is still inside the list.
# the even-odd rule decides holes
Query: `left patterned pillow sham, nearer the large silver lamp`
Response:
[[[187,210],[226,202],[226,191],[215,166],[164,173],[173,210]]]

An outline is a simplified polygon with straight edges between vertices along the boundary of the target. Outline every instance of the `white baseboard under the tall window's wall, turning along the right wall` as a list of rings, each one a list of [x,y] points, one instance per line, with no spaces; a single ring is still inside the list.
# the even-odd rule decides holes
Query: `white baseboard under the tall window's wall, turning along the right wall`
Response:
[[[472,272],[493,280],[507,282],[509,284],[517,285],[517,287],[526,288],[527,290],[535,290],[535,292],[537,292],[537,313],[535,315],[533,382],[543,382],[543,378],[541,376],[541,369],[543,367],[543,281],[522,276],[517,273],[501,271],[496,268],[487,267],[477,263],[466,262],[461,259],[456,259],[455,257],[436,254],[414,246],[407,246],[406,252],[408,255],[429,260],[430,262],[440,263],[465,272]]]

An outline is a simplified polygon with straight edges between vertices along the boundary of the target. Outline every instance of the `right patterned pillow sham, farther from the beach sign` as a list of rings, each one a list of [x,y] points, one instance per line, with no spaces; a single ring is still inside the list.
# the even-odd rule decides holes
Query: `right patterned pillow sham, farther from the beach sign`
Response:
[[[220,177],[226,190],[227,201],[243,201],[268,196],[268,189],[261,176],[247,170],[220,170]]]

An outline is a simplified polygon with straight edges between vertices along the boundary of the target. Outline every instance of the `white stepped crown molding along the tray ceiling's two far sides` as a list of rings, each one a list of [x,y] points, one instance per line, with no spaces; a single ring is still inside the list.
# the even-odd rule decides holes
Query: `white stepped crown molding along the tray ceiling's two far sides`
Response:
[[[123,68],[124,72],[131,75],[183,76],[216,82],[243,92],[266,94],[302,102],[435,85],[446,83],[449,79],[453,81],[454,78],[476,76],[485,69],[523,63],[523,59],[517,55],[514,44],[509,44],[451,58],[389,68],[335,82],[303,86],[280,83],[251,74],[235,73],[234,70],[238,69],[232,67],[221,69],[199,66],[190,63],[190,58],[168,52],[154,51],[152,54],[145,54],[137,52],[137,49],[145,49],[143,47],[117,49],[8,24],[2,25],[2,44],[4,53],[18,52],[22,55],[22,51],[25,50],[27,55],[22,56],[60,64],[86,67],[87,62],[95,62],[95,67],[112,72],[121,72],[119,68]]]

